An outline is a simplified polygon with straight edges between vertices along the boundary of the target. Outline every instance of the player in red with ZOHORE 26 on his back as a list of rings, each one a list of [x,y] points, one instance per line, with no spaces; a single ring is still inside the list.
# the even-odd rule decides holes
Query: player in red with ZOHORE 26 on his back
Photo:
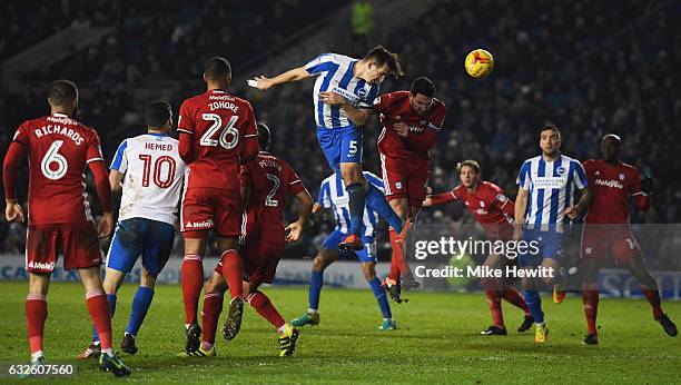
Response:
[[[243,261],[237,251],[243,214],[239,172],[241,165],[258,152],[250,103],[227,92],[231,81],[229,61],[220,57],[209,59],[204,81],[207,91],[182,102],[177,128],[179,154],[188,165],[180,210],[187,353],[196,352],[200,345],[201,329],[196,315],[204,286],[203,256],[209,229],[218,236],[221,274],[229,283],[228,334],[234,338],[239,332],[244,310]]]

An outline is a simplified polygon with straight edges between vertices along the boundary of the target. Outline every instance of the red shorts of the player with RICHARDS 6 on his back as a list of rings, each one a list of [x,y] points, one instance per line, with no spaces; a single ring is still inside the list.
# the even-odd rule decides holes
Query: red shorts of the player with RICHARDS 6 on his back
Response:
[[[52,273],[60,250],[66,270],[100,266],[102,263],[93,223],[32,225],[28,228],[26,241],[26,270]]]

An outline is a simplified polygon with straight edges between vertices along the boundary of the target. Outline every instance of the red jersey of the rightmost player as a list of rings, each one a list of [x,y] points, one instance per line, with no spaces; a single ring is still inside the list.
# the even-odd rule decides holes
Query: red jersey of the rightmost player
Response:
[[[650,197],[641,191],[641,177],[633,166],[602,159],[589,159],[583,165],[593,194],[588,224],[628,224],[629,197],[635,197],[639,209],[650,207]]]

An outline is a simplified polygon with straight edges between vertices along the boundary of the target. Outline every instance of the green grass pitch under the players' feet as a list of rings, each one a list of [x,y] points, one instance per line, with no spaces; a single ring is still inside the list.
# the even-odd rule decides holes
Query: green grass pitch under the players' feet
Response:
[[[0,283],[0,361],[28,361],[23,298],[26,283]],[[115,346],[127,324],[135,286],[118,295]],[[91,326],[83,293],[76,284],[53,284],[45,349],[51,362],[72,357],[88,345]],[[307,308],[304,288],[266,288],[287,318]],[[273,327],[255,312],[245,314],[241,333],[231,342],[218,334],[215,358],[178,358],[184,346],[179,286],[157,288],[137,338],[136,356],[122,356],[134,368],[132,382],[164,383],[650,383],[681,382],[681,339],[668,337],[652,320],[644,300],[602,299],[600,346],[582,346],[581,300],[554,305],[544,295],[550,342],[535,346],[532,334],[514,330],[521,312],[504,304],[512,333],[480,336],[490,323],[482,294],[415,294],[393,305],[399,330],[379,332],[381,316],[369,290],[325,289],[322,323],[305,327],[295,356],[277,356]],[[664,304],[681,318],[681,303]],[[225,319],[223,316],[221,322]],[[78,363],[70,381],[115,379],[91,362]],[[0,377],[0,383],[7,382]],[[53,382],[51,379],[50,382]],[[21,382],[26,383],[26,382]]]

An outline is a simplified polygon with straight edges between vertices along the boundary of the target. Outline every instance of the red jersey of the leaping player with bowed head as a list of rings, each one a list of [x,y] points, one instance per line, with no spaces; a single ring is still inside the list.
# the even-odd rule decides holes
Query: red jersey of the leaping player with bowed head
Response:
[[[378,138],[381,154],[392,158],[427,160],[428,151],[442,130],[446,108],[441,100],[433,99],[431,109],[422,117],[412,110],[408,91],[395,91],[376,98],[372,112],[379,115],[383,124]],[[409,127],[406,138],[397,135],[393,128],[393,125],[399,121]]]

